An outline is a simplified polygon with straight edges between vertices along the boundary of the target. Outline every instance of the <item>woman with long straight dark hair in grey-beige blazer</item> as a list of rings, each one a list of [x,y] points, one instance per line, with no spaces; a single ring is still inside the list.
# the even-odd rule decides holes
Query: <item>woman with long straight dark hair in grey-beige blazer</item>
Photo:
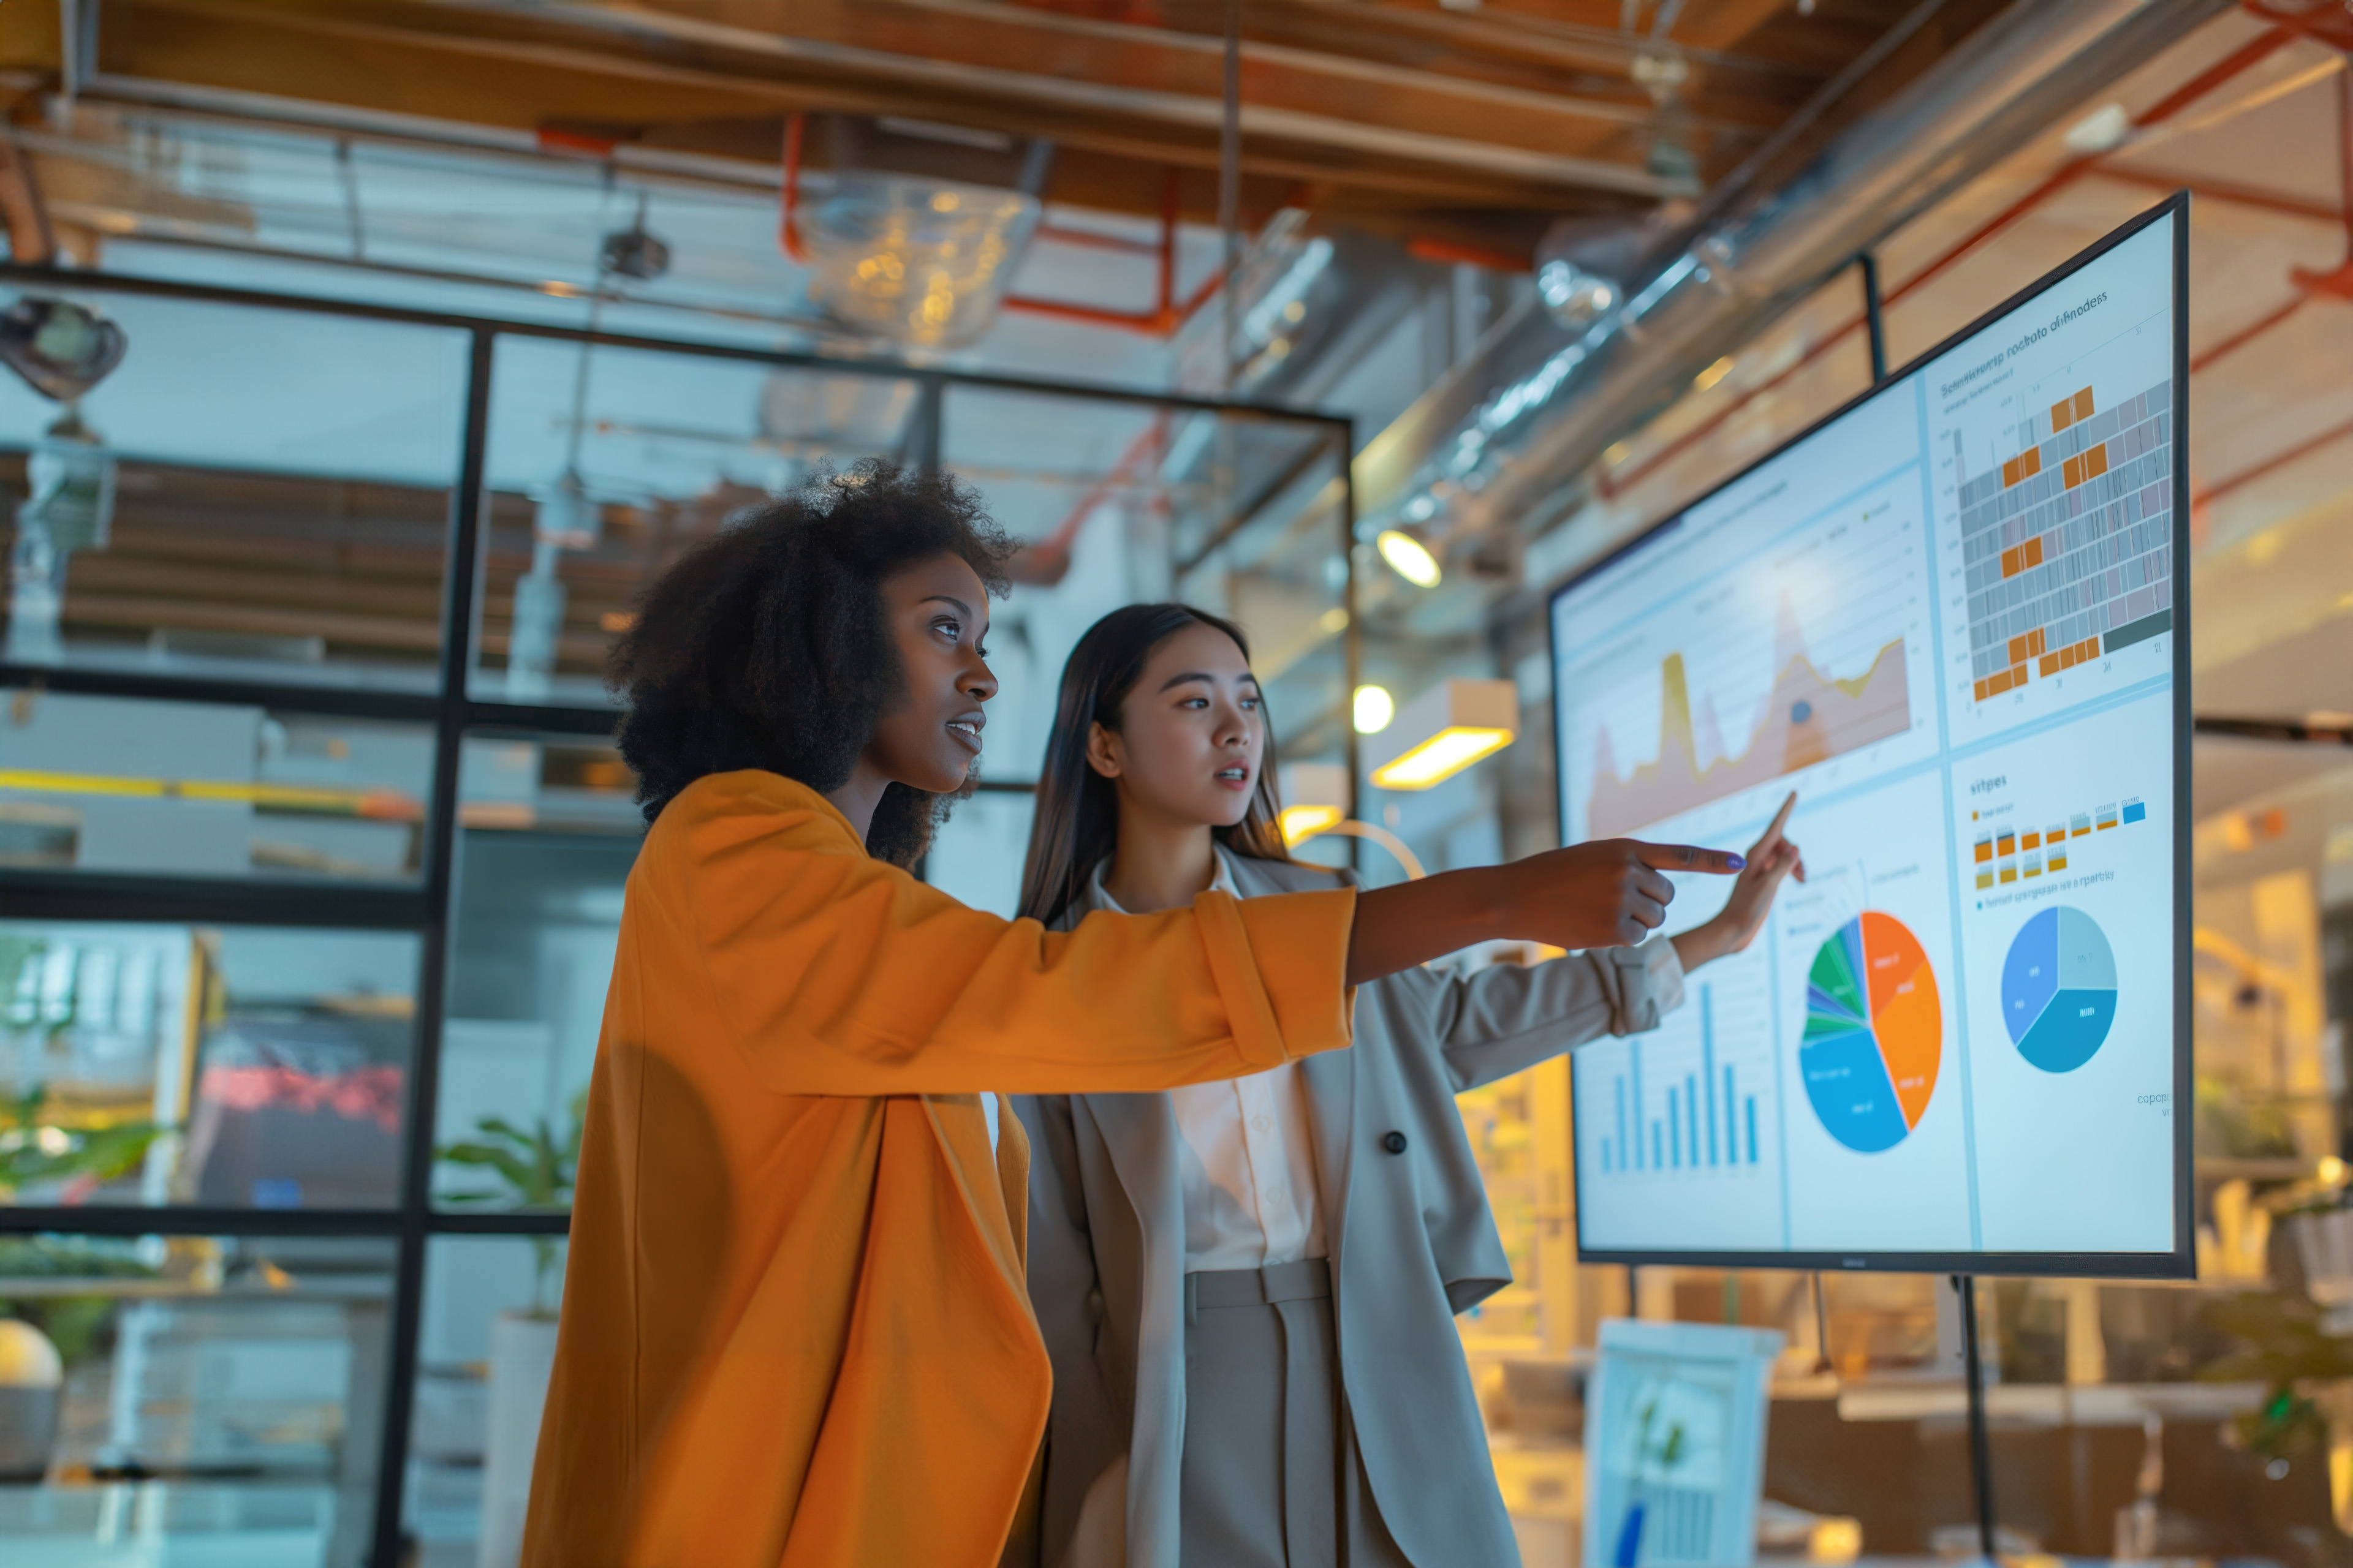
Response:
[[[1113,611],[1064,668],[1021,914],[1066,929],[1353,882],[1294,863],[1278,811],[1242,632]],[[1054,1361],[1042,1568],[1520,1561],[1452,1326],[1511,1281],[1454,1095],[1657,1027],[1685,971],[1746,947],[1802,877],[1786,816],[1725,912],[1673,940],[1407,969],[1358,987],[1353,1051],[1273,1072],[1016,1095]]]

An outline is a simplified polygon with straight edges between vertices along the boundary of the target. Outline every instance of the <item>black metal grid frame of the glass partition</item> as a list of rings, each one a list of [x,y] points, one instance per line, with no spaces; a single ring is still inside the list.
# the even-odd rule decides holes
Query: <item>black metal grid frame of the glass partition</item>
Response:
[[[87,670],[47,663],[0,661],[0,686],[120,698],[191,703],[238,703],[325,717],[391,719],[433,729],[433,778],[426,802],[421,879],[416,886],[322,886],[289,882],[242,882],[231,877],[111,875],[73,870],[0,867],[0,903],[9,919],[54,922],[169,922],[231,926],[344,926],[409,931],[421,938],[416,971],[416,1032],[402,1107],[400,1201],[391,1208],[224,1208],[224,1206],[0,1206],[0,1237],[388,1237],[398,1241],[398,1274],[391,1302],[391,1345],[384,1387],[384,1429],[376,1453],[374,1523],[369,1563],[402,1561],[402,1490],[409,1460],[409,1422],[416,1401],[416,1342],[424,1319],[424,1274],[435,1237],[565,1237],[567,1213],[452,1213],[433,1206],[433,1131],[440,1088],[442,1025],[449,990],[449,938],[456,896],[459,762],[473,731],[609,738],[616,708],[548,703],[499,703],[471,696],[480,621],[482,552],[487,543],[485,458],[489,447],[492,378],[499,339],[548,339],[579,346],[635,348],[680,357],[751,362],[774,369],[831,376],[871,376],[918,383],[908,451],[918,463],[939,461],[939,428],[946,388],[981,388],[1113,402],[1179,414],[1264,421],[1318,430],[1311,451],[1327,451],[1341,480],[1337,548],[1348,564],[1344,607],[1344,679],[1358,684],[1360,630],[1355,592],[1355,456],[1353,421],[1346,414],[1275,404],[1148,393],[1136,388],[1000,376],[908,364],[889,357],[835,357],[765,350],[692,339],[588,331],[551,322],[501,320],[438,310],[374,306],[311,294],[233,289],[122,273],[82,273],[52,266],[0,263],[0,284],[19,292],[75,296],[129,294],[226,308],[292,310],[348,320],[393,322],[461,331],[468,336],[459,470],[449,494],[442,557],[442,621],[435,684],[424,691],[376,691],[332,684],[280,684],[207,675]],[[1238,510],[1231,529],[1264,508],[1266,498]],[[1348,729],[1348,776],[1358,773],[1355,731]],[[1033,792],[1028,783],[988,785]]]

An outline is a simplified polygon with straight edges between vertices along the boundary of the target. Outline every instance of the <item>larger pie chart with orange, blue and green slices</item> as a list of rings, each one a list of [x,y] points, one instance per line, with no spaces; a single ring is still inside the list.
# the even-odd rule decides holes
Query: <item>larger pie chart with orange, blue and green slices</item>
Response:
[[[1920,938],[1864,910],[1814,950],[1798,1072],[1824,1131],[1857,1154],[1920,1126],[1944,1060],[1944,1009]]]

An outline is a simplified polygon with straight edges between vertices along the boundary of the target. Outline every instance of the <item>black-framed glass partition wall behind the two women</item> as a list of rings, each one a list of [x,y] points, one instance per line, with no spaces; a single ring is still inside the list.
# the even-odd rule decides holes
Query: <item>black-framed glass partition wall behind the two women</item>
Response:
[[[642,837],[605,649],[769,494],[946,465],[1024,545],[922,867],[967,903],[1115,604],[1235,616],[1353,771],[1346,421],[0,280],[127,343],[0,378],[0,1559],[515,1561]]]

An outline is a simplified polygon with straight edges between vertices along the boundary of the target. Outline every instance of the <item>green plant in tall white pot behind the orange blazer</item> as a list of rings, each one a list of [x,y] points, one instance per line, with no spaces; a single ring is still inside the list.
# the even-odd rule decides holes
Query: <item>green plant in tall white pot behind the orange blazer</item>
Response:
[[[482,1117],[473,1124],[473,1138],[440,1145],[433,1157],[492,1180],[471,1192],[442,1194],[442,1201],[525,1213],[567,1211],[586,1107],[584,1088],[572,1098],[560,1131],[546,1117],[529,1128],[506,1117]],[[489,1422],[482,1434],[478,1568],[513,1568],[522,1556],[522,1514],[532,1497],[539,1415],[548,1403],[548,1373],[555,1371],[551,1286],[558,1260],[555,1237],[532,1237],[532,1305],[522,1312],[501,1312],[489,1326]]]

